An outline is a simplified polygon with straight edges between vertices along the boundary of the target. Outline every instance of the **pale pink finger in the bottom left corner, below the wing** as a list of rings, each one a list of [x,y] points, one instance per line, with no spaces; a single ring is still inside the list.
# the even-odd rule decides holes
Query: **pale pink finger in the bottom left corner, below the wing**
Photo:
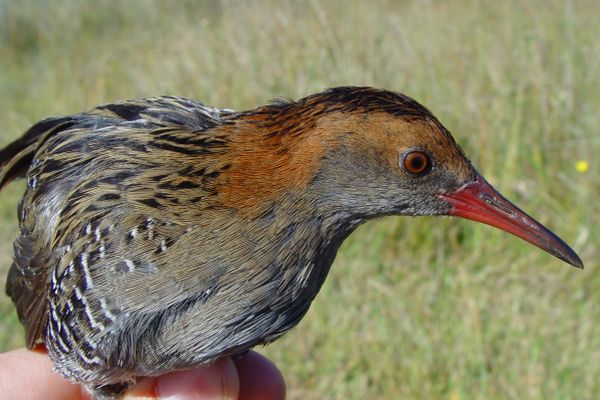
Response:
[[[18,349],[0,354],[0,399],[82,399],[81,387],[54,371],[46,354]]]

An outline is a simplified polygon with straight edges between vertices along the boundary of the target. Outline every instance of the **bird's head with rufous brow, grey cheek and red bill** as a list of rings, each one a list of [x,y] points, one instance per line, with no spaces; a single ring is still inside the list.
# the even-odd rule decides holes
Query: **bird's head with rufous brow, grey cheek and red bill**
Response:
[[[310,176],[307,185],[318,194],[317,208],[354,220],[381,215],[467,218],[583,267],[560,238],[500,195],[448,130],[415,100],[384,90],[342,87],[281,107],[292,113],[286,137],[301,136],[295,130],[310,132],[286,153],[293,165],[287,176]],[[298,113],[304,113],[302,118]],[[279,129],[272,137],[281,134]]]

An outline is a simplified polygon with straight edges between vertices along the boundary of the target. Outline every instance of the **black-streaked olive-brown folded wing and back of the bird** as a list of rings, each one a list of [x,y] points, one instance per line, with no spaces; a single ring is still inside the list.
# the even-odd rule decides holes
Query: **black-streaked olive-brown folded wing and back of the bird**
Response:
[[[30,347],[44,329],[53,279],[91,251],[85,239],[90,228],[92,236],[106,239],[111,229],[126,235],[148,221],[164,221],[165,226],[156,229],[164,231],[168,247],[171,236],[185,232],[211,207],[211,183],[225,166],[219,156],[227,145],[213,128],[227,113],[178,97],[142,99],[45,120],[25,134],[32,140],[20,139],[27,145],[26,157],[22,152],[11,154],[18,153],[19,165],[27,158],[30,166],[7,293],[26,327]],[[163,239],[157,240],[158,248]],[[120,249],[111,260],[122,261],[129,250],[115,241],[106,239],[103,251]],[[138,250],[148,251],[145,246],[149,242]]]

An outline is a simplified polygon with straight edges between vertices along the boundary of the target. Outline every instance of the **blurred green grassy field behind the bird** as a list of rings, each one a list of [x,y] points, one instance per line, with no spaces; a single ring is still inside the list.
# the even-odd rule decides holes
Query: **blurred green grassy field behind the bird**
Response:
[[[248,109],[336,85],[404,92],[586,269],[466,221],[370,222],[300,325],[259,349],[288,397],[598,399],[598,21],[591,0],[0,0],[0,146],[126,98]],[[0,196],[2,287],[23,190]],[[1,293],[0,350],[22,345]]]

